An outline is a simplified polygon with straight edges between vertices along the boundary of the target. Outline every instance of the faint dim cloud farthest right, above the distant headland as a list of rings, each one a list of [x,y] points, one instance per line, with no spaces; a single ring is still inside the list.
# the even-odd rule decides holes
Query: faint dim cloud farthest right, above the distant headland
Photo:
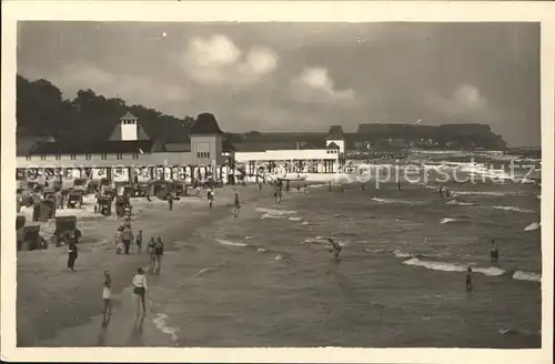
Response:
[[[491,119],[496,114],[480,89],[467,83],[460,84],[448,98],[437,93],[427,93],[424,101],[431,109],[444,117]]]

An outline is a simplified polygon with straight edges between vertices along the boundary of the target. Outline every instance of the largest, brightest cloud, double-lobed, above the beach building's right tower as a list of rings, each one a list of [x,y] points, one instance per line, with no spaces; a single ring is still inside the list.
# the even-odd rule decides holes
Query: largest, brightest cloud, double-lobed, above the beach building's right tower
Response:
[[[266,47],[252,47],[242,55],[241,49],[225,36],[196,37],[185,50],[185,73],[205,85],[245,87],[260,81],[278,67],[278,54]]]

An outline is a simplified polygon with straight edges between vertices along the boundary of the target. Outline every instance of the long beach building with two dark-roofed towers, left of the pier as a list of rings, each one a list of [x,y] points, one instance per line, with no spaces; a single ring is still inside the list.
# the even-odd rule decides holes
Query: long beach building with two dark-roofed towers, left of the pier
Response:
[[[147,134],[131,112],[120,118],[105,141],[21,140],[17,149],[18,181],[108,179],[113,182],[206,180],[228,183],[234,148],[224,140],[215,118],[202,113],[189,143],[165,143]]]

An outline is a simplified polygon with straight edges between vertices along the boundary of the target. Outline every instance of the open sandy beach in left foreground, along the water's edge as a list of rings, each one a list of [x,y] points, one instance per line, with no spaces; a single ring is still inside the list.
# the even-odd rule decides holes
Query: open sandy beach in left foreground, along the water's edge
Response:
[[[249,203],[259,195],[255,186],[238,186],[236,189],[242,202]],[[109,338],[91,340],[88,337],[88,335],[99,335],[99,328],[89,330],[89,327],[102,328],[103,326],[100,314],[103,271],[109,269],[112,274],[114,314],[110,326],[125,331],[128,330],[125,327],[134,327],[135,312],[129,286],[137,267],[149,264],[145,245],[150,236],[158,234],[165,236],[171,234],[172,230],[193,233],[196,229],[210,224],[214,219],[229,214],[234,196],[232,186],[216,190],[212,210],[209,210],[205,198],[196,196],[176,201],[173,211],[169,211],[168,204],[157,199],[153,199],[152,203],[141,202],[143,205],[137,209],[139,212],[134,211],[138,214],[133,220],[133,230],[135,233],[139,230],[143,231],[142,254],[115,254],[113,235],[120,222],[114,216],[79,223],[83,240],[79,244],[79,259],[74,273],[67,269],[67,247],[64,246],[50,245],[44,251],[19,252],[17,267],[18,346],[46,346],[59,331],[71,326],[77,326],[78,334],[73,331],[64,331],[65,335],[70,334],[70,340],[57,337],[56,341],[65,346],[101,345],[103,340],[110,346],[132,345],[128,342],[127,334],[112,332]],[[171,254],[171,240],[167,241],[165,250],[167,254]],[[151,279],[149,283],[155,285],[157,279]],[[138,327],[141,326],[139,323],[140,321]],[[160,317],[155,323],[152,317],[145,320],[144,331],[149,332],[149,327],[153,328],[152,325],[155,324],[161,324]],[[132,332],[135,331],[132,330]],[[160,335],[159,330],[150,332],[155,332],[153,336],[160,340],[151,337],[149,345],[157,342],[159,345],[168,345],[168,337]]]

